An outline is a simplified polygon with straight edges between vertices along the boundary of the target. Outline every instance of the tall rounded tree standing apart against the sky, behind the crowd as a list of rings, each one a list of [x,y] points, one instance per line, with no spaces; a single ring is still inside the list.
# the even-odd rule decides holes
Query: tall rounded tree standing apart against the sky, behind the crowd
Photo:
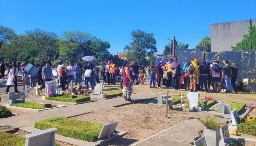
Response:
[[[157,52],[156,39],[154,33],[146,33],[145,31],[136,29],[131,32],[131,40],[129,45],[125,45],[124,51],[131,51],[138,58],[138,62],[145,62],[146,56],[151,56]],[[147,61],[146,61],[147,62]]]

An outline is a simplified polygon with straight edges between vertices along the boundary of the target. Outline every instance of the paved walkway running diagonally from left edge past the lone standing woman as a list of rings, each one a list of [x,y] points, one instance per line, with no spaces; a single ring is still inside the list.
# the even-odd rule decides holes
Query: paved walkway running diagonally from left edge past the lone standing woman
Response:
[[[163,91],[150,92],[148,90],[134,90],[132,99],[137,102],[144,99],[150,99],[157,97],[157,95],[164,94]],[[101,109],[106,109],[110,107],[121,106],[125,104],[131,104],[123,101],[122,97],[111,98],[106,100],[99,100],[96,102],[78,104],[75,106],[67,106],[55,109],[49,109],[44,111],[39,111],[31,114],[17,115],[9,118],[0,119],[0,125],[11,125],[14,128],[25,127],[35,124],[35,122],[56,117],[72,117],[76,115],[85,114],[92,111],[97,111]]]

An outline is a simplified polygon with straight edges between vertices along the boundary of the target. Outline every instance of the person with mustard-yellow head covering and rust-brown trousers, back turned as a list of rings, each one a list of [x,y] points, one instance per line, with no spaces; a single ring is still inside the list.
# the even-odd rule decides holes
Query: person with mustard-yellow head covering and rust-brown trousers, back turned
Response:
[[[199,69],[197,65],[197,59],[194,59],[192,64],[188,68],[188,74],[190,77],[190,92],[197,92],[196,82],[199,81]]]

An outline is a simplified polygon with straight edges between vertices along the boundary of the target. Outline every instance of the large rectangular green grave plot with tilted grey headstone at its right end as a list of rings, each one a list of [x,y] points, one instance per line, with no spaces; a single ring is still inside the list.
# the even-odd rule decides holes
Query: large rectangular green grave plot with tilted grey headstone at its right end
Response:
[[[54,117],[35,123],[35,128],[41,130],[53,127],[58,129],[56,133],[59,135],[94,142],[103,125],[66,117]]]

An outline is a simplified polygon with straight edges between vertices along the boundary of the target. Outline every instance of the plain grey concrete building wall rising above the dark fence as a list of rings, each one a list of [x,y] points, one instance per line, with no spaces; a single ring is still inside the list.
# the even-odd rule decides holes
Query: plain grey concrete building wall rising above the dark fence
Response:
[[[251,21],[256,25],[256,19]],[[211,24],[211,52],[231,51],[248,34],[249,25],[249,20]]]

